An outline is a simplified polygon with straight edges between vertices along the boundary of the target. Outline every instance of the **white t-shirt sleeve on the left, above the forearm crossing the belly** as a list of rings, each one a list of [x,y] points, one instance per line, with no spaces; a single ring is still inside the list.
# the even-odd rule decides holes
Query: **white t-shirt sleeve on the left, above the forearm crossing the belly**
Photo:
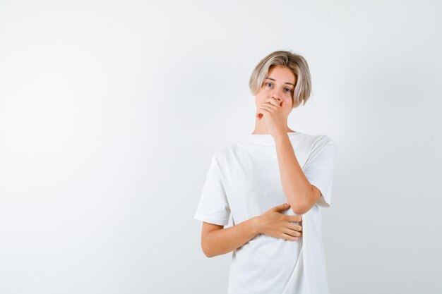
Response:
[[[229,216],[230,207],[222,182],[220,167],[215,158],[212,157],[203,192],[193,218],[225,226],[229,223]]]

